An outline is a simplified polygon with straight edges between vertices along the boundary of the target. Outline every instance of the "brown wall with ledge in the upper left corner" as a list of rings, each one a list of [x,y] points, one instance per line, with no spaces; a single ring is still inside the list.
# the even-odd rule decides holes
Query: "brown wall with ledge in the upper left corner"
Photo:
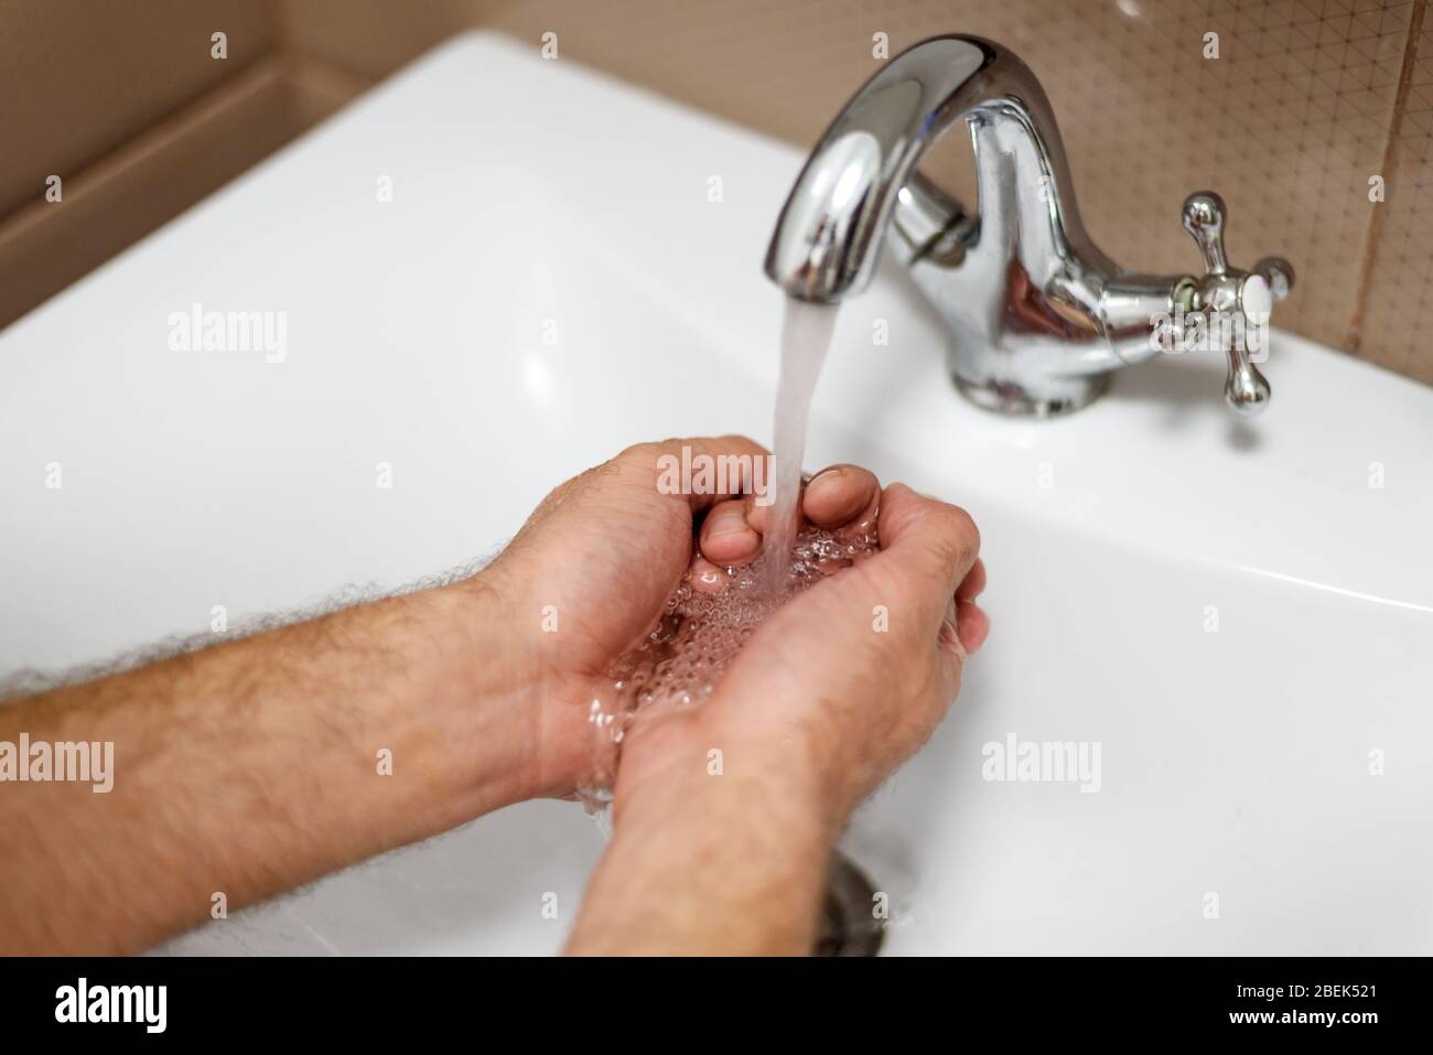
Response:
[[[262,0],[0,0],[0,327],[367,86],[281,24]]]

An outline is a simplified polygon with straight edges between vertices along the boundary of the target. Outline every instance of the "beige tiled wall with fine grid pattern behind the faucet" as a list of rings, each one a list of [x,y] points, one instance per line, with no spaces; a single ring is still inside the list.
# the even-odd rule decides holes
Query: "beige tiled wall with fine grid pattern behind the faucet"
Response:
[[[877,67],[877,34],[891,54],[933,33],[983,34],[1045,83],[1086,226],[1119,262],[1195,269],[1179,204],[1192,189],[1217,189],[1230,206],[1234,264],[1280,254],[1298,271],[1281,327],[1433,383],[1433,345],[1419,340],[1422,324],[1433,324],[1426,9],[1427,0],[274,0],[268,30],[272,52],[350,92],[466,26],[535,49],[553,32],[560,59],[800,145]],[[973,198],[960,136],[929,168]]]

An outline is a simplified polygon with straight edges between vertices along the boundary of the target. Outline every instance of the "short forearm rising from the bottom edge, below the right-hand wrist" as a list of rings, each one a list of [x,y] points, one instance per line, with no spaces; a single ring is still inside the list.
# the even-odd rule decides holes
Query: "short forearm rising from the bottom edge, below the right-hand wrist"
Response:
[[[833,816],[790,744],[663,745],[618,787],[613,837],[583,896],[572,955],[805,955],[815,942]],[[719,743],[719,741],[712,741]]]

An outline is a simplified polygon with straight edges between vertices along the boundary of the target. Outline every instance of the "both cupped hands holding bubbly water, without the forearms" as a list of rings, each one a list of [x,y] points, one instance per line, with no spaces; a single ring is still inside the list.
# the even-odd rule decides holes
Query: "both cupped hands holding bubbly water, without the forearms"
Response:
[[[715,565],[757,556],[770,506],[739,495],[663,495],[659,457],[762,456],[744,437],[639,444],[557,487],[484,576],[533,626],[509,662],[530,687],[535,790],[566,796],[595,771],[588,704],[608,665],[636,645],[699,549]],[[702,707],[641,717],[613,788],[620,817],[641,788],[711,747],[801,774],[828,821],[851,808],[931,734],[960,688],[964,655],[984,642],[979,533],[962,509],[904,484],[881,490],[856,466],[818,473],[802,513],[840,530],[877,520],[880,552],[818,582],[775,612]],[[550,608],[549,608],[550,606]],[[536,632],[553,612],[557,632]]]

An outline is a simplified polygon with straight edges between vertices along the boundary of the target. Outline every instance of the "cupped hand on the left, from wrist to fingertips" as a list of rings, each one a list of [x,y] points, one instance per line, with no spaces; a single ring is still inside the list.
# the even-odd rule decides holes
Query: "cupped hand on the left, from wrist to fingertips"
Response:
[[[588,722],[593,687],[613,659],[638,645],[692,569],[692,529],[701,520],[702,555],[739,565],[761,548],[770,506],[731,490],[668,495],[659,490],[663,456],[765,457],[741,437],[641,443],[553,490],[502,556],[479,579],[503,599],[506,662],[526,685],[533,793],[570,796],[596,771],[602,747]],[[844,523],[874,500],[874,477],[827,473],[807,490],[802,512],[823,525]],[[547,629],[545,631],[545,624]]]

